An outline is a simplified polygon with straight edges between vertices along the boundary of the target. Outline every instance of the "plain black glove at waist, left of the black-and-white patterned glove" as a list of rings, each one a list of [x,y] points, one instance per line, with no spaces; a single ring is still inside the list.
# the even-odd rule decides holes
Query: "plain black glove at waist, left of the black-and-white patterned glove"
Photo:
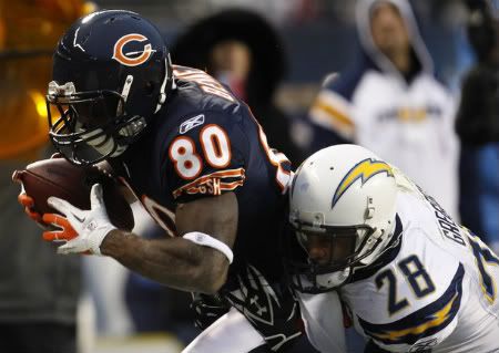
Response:
[[[227,313],[231,304],[222,297],[192,293],[191,309],[194,311],[194,325],[205,330],[218,318]]]

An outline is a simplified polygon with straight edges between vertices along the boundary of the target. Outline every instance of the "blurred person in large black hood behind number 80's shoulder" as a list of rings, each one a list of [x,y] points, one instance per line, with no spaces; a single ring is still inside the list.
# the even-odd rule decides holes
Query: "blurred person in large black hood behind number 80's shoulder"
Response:
[[[303,159],[292,142],[288,117],[274,103],[287,60],[278,33],[264,18],[232,9],[202,19],[177,38],[172,58],[227,84],[251,106],[268,144],[293,165]]]

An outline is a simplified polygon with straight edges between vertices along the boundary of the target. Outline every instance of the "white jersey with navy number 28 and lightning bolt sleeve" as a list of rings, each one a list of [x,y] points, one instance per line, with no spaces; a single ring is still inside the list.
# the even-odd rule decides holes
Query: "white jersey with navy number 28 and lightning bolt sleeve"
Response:
[[[499,258],[415,187],[399,193],[395,235],[339,290],[356,330],[390,352],[499,352]],[[308,311],[340,315],[337,305]],[[307,331],[327,331],[322,322]]]

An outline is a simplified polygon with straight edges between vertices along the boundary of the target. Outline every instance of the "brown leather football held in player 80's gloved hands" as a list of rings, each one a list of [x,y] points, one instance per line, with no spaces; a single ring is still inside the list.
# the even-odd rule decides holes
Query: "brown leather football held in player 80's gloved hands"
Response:
[[[95,166],[80,167],[64,158],[50,158],[16,170],[12,179],[22,183],[26,194],[34,200],[34,210],[42,215],[57,212],[47,204],[50,196],[62,198],[78,208],[90,209],[90,189],[100,183],[111,222],[129,231],[134,227],[132,208],[120,193],[119,181]]]

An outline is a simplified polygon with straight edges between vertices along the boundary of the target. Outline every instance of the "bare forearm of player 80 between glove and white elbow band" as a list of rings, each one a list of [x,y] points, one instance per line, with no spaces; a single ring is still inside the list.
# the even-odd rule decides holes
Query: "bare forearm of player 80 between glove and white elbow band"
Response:
[[[221,257],[214,251],[182,238],[144,239],[120,230],[111,231],[101,245],[103,255],[132,271],[167,287],[205,293],[216,292],[225,281],[226,271],[216,271],[223,266],[216,267]]]

